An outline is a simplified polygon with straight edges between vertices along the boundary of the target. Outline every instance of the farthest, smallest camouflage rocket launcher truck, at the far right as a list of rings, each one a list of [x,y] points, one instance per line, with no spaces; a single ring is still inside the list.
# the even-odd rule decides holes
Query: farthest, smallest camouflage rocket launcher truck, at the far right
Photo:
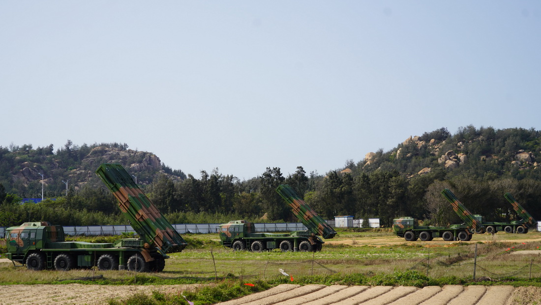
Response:
[[[485,221],[485,218],[481,215],[475,216],[483,225],[485,226],[486,233],[497,233],[498,231],[504,231],[505,233],[518,233],[525,234],[528,233],[529,228],[535,228],[537,222],[533,219],[530,213],[526,210],[513,198],[511,193],[504,194],[505,199],[511,203],[513,206],[514,212],[521,218],[520,220],[512,220],[509,222],[493,222]],[[483,233],[483,232],[478,232]]]

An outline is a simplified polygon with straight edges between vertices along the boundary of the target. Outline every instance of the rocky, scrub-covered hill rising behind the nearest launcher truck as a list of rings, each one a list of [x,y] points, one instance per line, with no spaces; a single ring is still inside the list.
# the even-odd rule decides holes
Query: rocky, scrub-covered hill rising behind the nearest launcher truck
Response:
[[[43,185],[49,195],[60,195],[65,192],[65,182],[76,190],[89,183],[101,185],[95,170],[102,163],[122,164],[134,179],[137,177],[140,185],[150,184],[160,174],[168,175],[174,181],[186,178],[181,171],[172,171],[164,166],[160,158],[151,152],[113,145],[76,148],[56,154],[39,154],[38,150],[6,153],[4,150],[0,153],[0,183],[8,192],[33,196],[41,192],[43,174]]]

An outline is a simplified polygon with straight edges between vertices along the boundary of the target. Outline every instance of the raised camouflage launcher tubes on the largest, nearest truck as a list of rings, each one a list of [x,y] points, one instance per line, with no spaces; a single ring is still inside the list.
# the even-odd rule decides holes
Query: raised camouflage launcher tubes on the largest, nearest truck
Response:
[[[162,255],[166,255],[168,252],[180,252],[187,246],[187,242],[135,184],[122,165],[102,164],[96,174],[113,192],[124,217],[149,247],[156,247]]]

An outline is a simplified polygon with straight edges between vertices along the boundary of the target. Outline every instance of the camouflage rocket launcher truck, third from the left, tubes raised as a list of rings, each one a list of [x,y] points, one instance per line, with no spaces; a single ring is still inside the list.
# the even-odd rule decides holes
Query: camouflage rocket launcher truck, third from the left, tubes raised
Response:
[[[449,190],[441,191],[445,199],[451,202],[453,211],[464,221],[464,225],[450,225],[448,227],[419,226],[417,219],[401,217],[393,219],[393,231],[399,238],[407,241],[431,241],[434,238],[441,238],[445,241],[461,240],[469,241],[472,234],[483,228],[483,225],[474,218],[468,209],[461,204],[456,196]]]

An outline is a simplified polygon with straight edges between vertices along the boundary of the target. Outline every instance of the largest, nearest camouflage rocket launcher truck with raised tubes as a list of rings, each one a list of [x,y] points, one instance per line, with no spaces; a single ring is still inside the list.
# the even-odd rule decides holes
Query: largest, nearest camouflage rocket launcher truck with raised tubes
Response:
[[[180,252],[187,243],[118,164],[96,170],[118,199],[118,206],[139,238],[113,243],[67,242],[62,226],[25,222],[6,229],[8,258],[28,269],[69,270],[97,266],[100,270],[160,272],[167,253]]]

